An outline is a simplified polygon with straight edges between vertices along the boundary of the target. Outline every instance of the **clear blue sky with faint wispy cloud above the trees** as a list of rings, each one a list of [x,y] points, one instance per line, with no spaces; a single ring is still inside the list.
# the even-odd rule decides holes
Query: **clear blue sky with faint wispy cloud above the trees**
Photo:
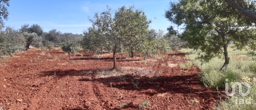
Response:
[[[153,20],[151,29],[165,30],[171,23],[164,17],[170,0],[11,0],[9,19],[6,26],[19,29],[23,24],[39,24],[45,32],[57,29],[62,33],[82,34],[91,26],[88,17],[94,12],[107,10],[108,5],[113,10],[123,5],[134,5],[142,9],[148,19]],[[157,17],[157,19],[154,19]]]

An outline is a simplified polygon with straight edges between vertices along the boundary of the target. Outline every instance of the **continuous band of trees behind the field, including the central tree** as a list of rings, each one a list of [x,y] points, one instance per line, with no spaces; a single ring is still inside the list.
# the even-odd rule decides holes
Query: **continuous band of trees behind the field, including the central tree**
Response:
[[[24,24],[19,30],[7,27],[0,31],[0,54],[10,55],[18,50],[28,50],[30,46],[42,50],[51,50],[60,46],[63,51],[75,53],[80,51],[113,53],[113,69],[116,68],[116,54],[129,53],[129,57],[137,55],[147,56],[175,50],[177,47],[186,47],[175,35],[165,34],[162,30],[149,29],[151,20],[143,10],[134,6],[122,6],[112,15],[111,8],[101,13],[96,12],[90,19],[92,26],[84,31],[83,35],[61,33],[56,29],[43,32],[38,24]]]

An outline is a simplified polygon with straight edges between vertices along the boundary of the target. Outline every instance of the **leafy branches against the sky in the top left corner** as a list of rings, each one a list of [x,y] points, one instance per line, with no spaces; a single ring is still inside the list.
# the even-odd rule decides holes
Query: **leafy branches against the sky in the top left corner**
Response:
[[[4,27],[3,20],[8,19],[9,12],[7,10],[7,7],[10,6],[9,4],[10,0],[1,0],[0,1],[0,29]]]

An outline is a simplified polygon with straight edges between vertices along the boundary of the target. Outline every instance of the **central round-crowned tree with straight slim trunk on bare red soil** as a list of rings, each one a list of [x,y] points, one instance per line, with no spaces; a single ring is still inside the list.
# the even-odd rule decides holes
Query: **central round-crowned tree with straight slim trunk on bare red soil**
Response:
[[[147,20],[142,10],[134,11],[134,6],[118,8],[114,17],[111,15],[111,9],[108,8],[107,11],[100,14],[95,13],[94,19],[90,19],[90,21],[93,24],[90,29],[94,29],[92,32],[96,33],[93,36],[103,42],[103,44],[99,42],[100,44],[96,45],[113,52],[113,69],[116,68],[116,53],[128,49],[131,42],[137,41],[136,36],[146,32],[148,24],[151,22]]]

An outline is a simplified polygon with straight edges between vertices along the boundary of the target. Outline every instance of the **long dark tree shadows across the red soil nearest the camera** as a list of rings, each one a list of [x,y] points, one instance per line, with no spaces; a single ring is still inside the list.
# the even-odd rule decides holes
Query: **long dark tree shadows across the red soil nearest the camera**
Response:
[[[90,78],[80,78],[79,81],[91,81],[99,82],[103,85],[110,87],[112,83],[113,88],[138,91],[141,94],[146,94],[149,96],[161,94],[161,93],[179,93],[183,96],[190,97],[203,97],[208,99],[212,97],[218,99],[218,92],[207,88],[199,81],[198,74],[189,75],[176,75],[176,76],[159,76],[159,77],[146,77],[126,74],[122,76],[111,76],[98,78],[97,71],[110,71],[110,69],[87,69],[87,70],[55,70],[46,71],[39,74],[41,77],[52,76],[55,74],[54,78],[61,78],[64,76],[87,76]],[[133,83],[138,83],[138,88],[136,88]],[[205,101],[205,103],[210,103]]]

